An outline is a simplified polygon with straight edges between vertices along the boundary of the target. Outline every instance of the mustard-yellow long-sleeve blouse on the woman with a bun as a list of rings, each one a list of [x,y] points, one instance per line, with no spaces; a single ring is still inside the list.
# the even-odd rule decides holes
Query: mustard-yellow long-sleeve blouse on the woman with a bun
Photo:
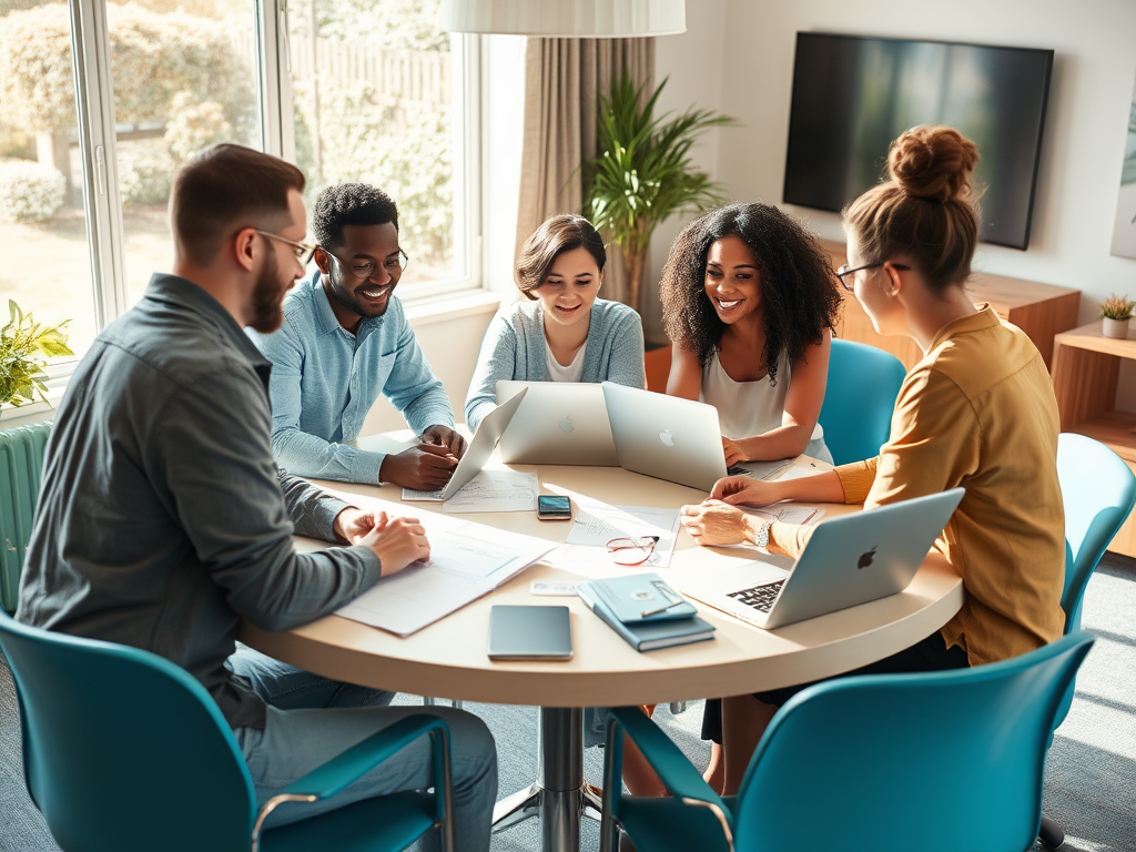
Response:
[[[962,576],[967,601],[942,629],[971,666],[1061,636],[1064,509],[1059,417],[1042,356],[988,307],[944,326],[903,382],[879,456],[836,468],[846,503],[877,506],[961,485],[935,542]],[[774,524],[790,556],[808,529]]]

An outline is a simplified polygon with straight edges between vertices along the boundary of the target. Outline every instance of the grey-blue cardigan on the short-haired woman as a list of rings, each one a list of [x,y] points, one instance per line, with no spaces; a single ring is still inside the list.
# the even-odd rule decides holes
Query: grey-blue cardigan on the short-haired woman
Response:
[[[498,311],[485,331],[474,377],[466,395],[466,425],[477,428],[496,407],[499,379],[548,382],[544,315],[537,301],[519,301]],[[588,316],[587,349],[580,382],[615,382],[646,387],[643,321],[619,302],[596,299]]]

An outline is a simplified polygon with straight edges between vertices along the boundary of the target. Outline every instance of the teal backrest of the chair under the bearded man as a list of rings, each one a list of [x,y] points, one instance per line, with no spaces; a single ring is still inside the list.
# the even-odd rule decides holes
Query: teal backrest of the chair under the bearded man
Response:
[[[27,788],[61,849],[248,852],[252,779],[191,675],[3,612],[0,649],[16,682]]]

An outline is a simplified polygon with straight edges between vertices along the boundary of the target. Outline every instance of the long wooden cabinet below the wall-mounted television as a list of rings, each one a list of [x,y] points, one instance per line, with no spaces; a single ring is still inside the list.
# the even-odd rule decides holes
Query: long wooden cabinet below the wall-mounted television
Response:
[[[844,243],[832,240],[821,242],[832,256],[835,267],[844,264]],[[976,303],[989,302],[1002,319],[1013,323],[1024,331],[1042,353],[1046,367],[1052,366],[1053,336],[1072,328],[1080,310],[1079,290],[1036,281],[979,273],[970,279],[967,290]],[[903,366],[908,369],[919,362],[922,351],[913,340],[877,334],[871,319],[864,314],[857,298],[843,290],[842,294],[844,312],[836,328],[838,337],[867,343],[891,352],[903,361]]]

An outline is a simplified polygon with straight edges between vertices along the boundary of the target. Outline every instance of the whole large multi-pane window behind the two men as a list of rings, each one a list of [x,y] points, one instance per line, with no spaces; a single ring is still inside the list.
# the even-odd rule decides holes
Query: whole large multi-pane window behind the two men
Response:
[[[169,270],[173,175],[218,141],[294,160],[309,206],[385,190],[403,299],[476,286],[478,57],[437,2],[0,0],[0,293],[82,354]]]

